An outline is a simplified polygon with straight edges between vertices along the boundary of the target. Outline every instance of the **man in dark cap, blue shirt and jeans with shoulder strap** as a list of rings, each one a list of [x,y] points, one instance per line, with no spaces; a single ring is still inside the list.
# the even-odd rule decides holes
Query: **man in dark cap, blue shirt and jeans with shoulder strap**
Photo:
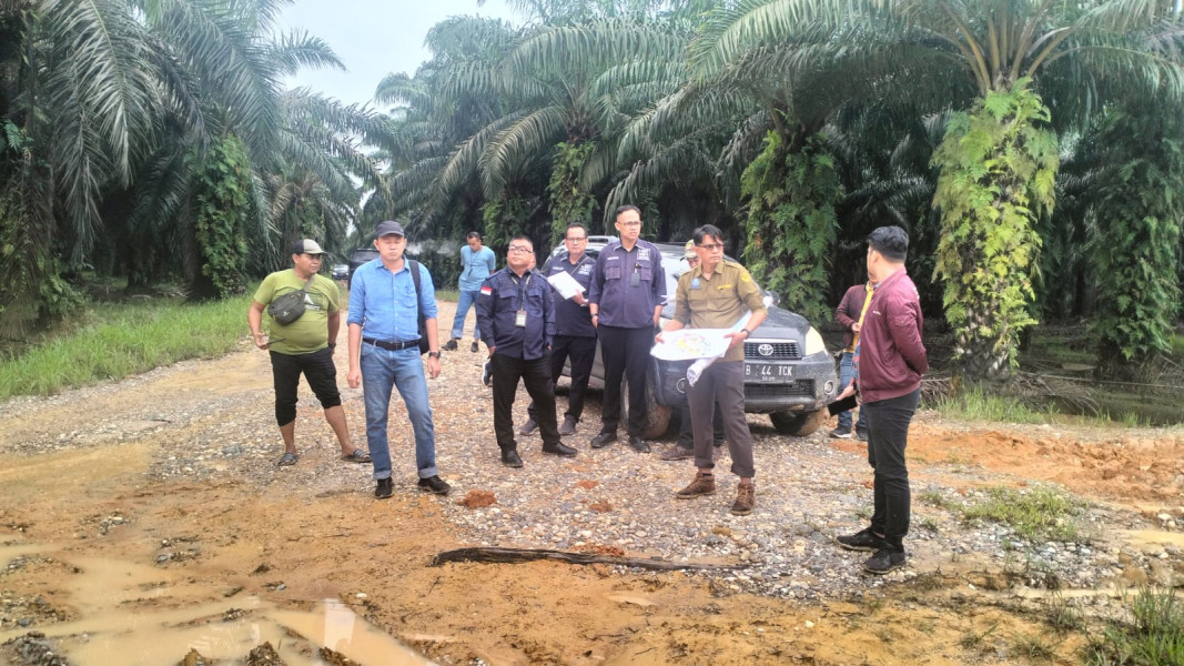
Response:
[[[423,264],[419,286],[403,252],[407,235],[397,222],[384,222],[374,231],[379,257],[358,267],[349,289],[349,374],[350,389],[362,385],[366,399],[366,438],[374,459],[374,497],[386,499],[393,492],[387,417],[391,390],[399,389],[416,436],[416,468],[419,488],[446,494],[449,485],[436,467],[436,427],[427,402],[427,380],[419,353],[419,313],[427,337],[427,372],[440,373],[439,338],[436,327],[436,288]],[[418,290],[418,294],[417,294]]]

